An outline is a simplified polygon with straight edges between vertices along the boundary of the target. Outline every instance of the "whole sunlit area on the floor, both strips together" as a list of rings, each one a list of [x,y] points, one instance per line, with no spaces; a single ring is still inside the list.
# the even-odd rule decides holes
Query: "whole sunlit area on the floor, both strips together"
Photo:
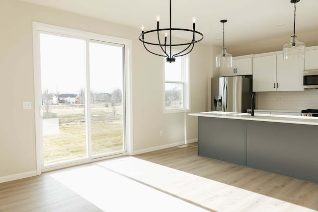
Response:
[[[98,162],[52,177],[111,212],[203,212],[207,208],[216,212],[316,212],[135,157]]]

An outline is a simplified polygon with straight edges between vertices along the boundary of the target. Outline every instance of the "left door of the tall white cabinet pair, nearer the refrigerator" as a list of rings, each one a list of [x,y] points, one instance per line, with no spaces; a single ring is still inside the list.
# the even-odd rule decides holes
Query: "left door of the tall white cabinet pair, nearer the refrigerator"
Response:
[[[253,92],[276,91],[276,55],[253,58]]]

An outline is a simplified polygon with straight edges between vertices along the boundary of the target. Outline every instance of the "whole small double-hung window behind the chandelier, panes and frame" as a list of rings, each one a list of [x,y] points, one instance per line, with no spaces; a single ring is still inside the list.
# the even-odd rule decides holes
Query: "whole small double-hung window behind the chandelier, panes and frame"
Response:
[[[189,110],[189,55],[164,62],[164,112]]]

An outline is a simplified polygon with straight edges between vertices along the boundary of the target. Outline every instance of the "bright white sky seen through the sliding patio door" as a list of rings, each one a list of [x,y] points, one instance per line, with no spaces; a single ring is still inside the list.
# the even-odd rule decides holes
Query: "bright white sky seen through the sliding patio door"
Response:
[[[123,86],[123,47],[89,41],[90,88],[111,93]],[[86,80],[86,41],[40,34],[42,91],[79,94]]]

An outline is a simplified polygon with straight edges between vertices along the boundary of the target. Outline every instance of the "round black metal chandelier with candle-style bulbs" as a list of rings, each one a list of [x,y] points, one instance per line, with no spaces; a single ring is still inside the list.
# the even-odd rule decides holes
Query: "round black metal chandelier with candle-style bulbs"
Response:
[[[162,42],[163,39],[160,40],[160,35],[159,32],[161,31],[165,31],[165,35],[164,35],[164,41]],[[186,32],[191,32],[192,33],[192,40],[188,43],[172,43],[172,33],[173,32],[181,32],[181,31],[186,31]],[[169,32],[169,42],[167,43],[167,36],[168,36],[168,32]],[[158,42],[157,43],[153,43],[151,41],[147,41],[146,40],[146,35],[150,34],[150,33],[157,33],[157,37],[158,37]],[[197,35],[197,36],[196,36]],[[199,37],[196,40],[196,37]],[[171,0],[170,0],[170,27],[169,28],[159,28],[159,17],[157,17],[157,29],[153,29],[153,30],[149,30],[149,31],[144,31],[144,28],[142,27],[142,33],[139,36],[139,40],[141,42],[143,42],[145,49],[157,56],[160,57],[165,57],[166,58],[166,62],[174,62],[176,57],[180,57],[180,56],[184,56],[186,54],[189,54],[193,47],[194,44],[202,41],[203,39],[203,34],[201,32],[195,31],[195,18],[193,18],[193,29],[182,29],[182,28],[171,28]],[[151,46],[159,46],[162,53],[158,54],[155,52],[152,52],[149,48],[147,48],[148,45]],[[172,47],[176,47],[176,46],[184,46],[182,50],[180,50],[179,52],[172,54]],[[168,47],[168,48],[167,48]],[[160,50],[159,49],[159,50]]]

